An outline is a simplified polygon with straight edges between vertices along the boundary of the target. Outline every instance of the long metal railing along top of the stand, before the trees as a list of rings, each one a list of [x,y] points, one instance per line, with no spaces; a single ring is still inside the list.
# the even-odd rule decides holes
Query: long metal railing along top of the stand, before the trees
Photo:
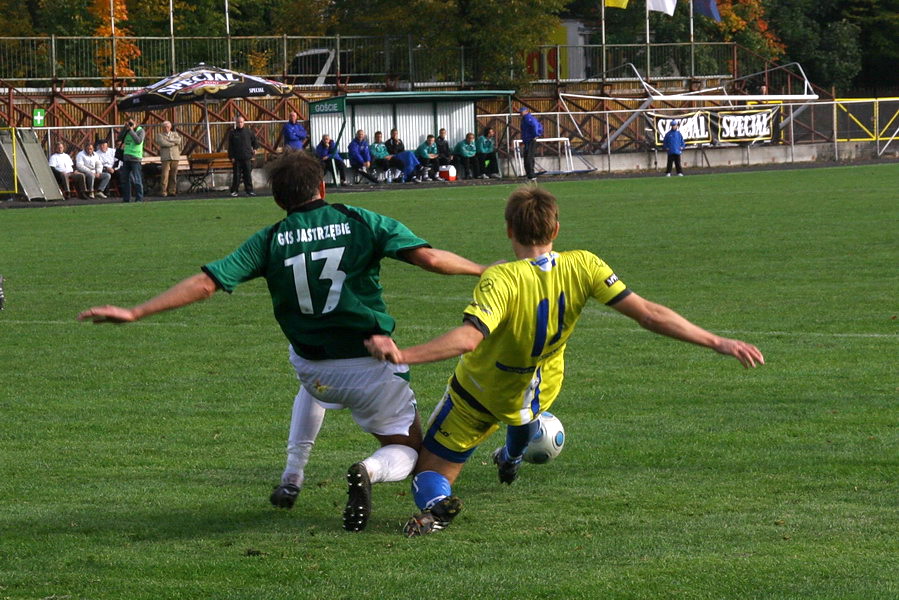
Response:
[[[510,78],[524,81],[733,76],[733,43],[540,46]],[[0,79],[14,85],[146,85],[198,63],[313,88],[390,81],[472,83],[479,58],[465,47],[434,48],[411,36],[0,37]]]

